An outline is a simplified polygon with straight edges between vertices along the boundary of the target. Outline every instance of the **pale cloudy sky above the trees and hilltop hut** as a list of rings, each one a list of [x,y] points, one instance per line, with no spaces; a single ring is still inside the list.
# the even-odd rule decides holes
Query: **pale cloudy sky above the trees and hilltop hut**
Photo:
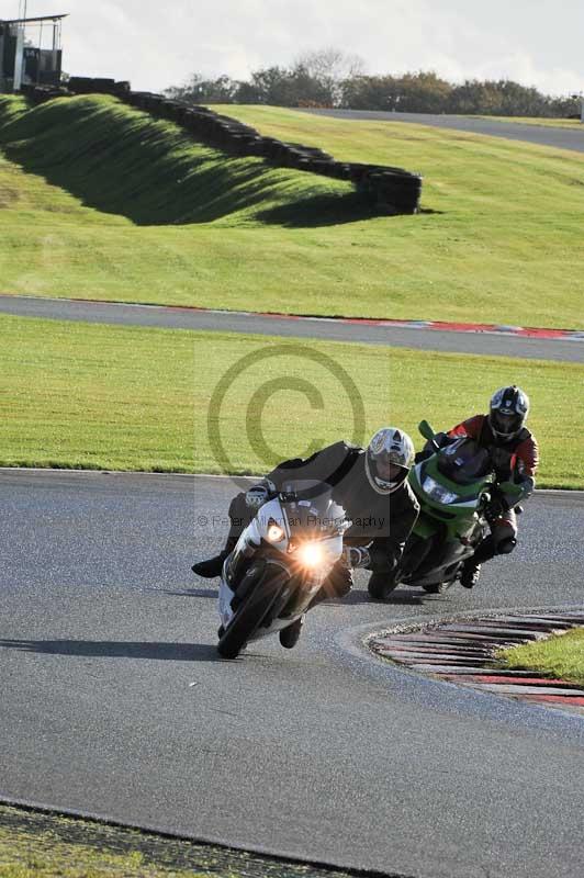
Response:
[[[0,0],[0,18],[19,7]],[[161,91],[195,71],[245,79],[333,46],[361,56],[369,74],[584,90],[584,0],[27,0],[29,16],[61,12],[64,69],[135,89]]]

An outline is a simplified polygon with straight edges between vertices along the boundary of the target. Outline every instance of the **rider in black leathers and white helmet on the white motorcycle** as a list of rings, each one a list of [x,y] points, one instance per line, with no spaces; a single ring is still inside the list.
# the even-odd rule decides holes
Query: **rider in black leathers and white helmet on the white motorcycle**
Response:
[[[363,566],[372,571],[373,577],[386,575],[397,564],[419,511],[407,484],[413,462],[412,439],[395,427],[378,430],[367,449],[340,441],[306,460],[284,461],[257,485],[233,498],[225,548],[214,558],[194,564],[192,570],[205,578],[218,576],[225,559],[257,510],[281,491],[287,481],[312,479],[333,487],[334,499],[352,521],[344,540],[351,551],[347,551],[344,562],[334,567],[314,604],[328,596],[342,597],[352,586],[353,567]]]

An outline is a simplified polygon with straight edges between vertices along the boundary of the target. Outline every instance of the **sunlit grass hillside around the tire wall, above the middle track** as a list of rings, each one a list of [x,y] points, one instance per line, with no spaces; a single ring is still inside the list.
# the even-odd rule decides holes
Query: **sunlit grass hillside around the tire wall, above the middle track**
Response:
[[[223,108],[225,109],[225,108]],[[225,159],[108,97],[0,99],[2,290],[584,328],[584,155],[412,124],[229,108],[263,134],[425,176],[424,213]]]

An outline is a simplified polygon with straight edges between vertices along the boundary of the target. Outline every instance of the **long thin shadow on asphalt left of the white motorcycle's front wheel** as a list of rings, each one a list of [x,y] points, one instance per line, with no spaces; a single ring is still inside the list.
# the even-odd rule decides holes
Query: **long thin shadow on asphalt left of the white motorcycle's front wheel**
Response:
[[[0,648],[83,658],[148,658],[170,662],[221,662],[210,643],[154,643],[112,640],[0,640]]]

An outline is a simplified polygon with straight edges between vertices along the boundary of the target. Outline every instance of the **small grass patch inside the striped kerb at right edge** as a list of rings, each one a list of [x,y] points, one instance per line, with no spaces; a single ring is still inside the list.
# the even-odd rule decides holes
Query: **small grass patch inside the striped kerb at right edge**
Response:
[[[584,628],[576,628],[537,643],[501,650],[507,667],[537,671],[554,679],[584,685]]]

